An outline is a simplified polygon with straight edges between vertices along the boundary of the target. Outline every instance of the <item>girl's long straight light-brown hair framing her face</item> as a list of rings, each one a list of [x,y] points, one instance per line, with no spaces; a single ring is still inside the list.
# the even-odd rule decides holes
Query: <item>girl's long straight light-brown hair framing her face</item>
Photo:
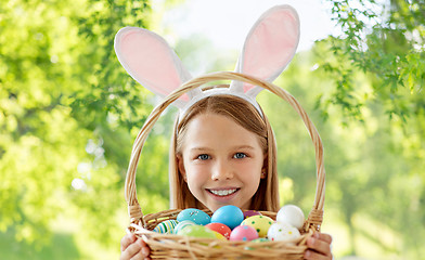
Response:
[[[271,126],[266,117],[247,101],[233,95],[212,95],[192,105],[183,117],[178,118],[170,145],[170,205],[171,208],[202,208],[203,205],[192,195],[179,171],[177,155],[181,155],[182,143],[186,138],[186,126],[199,114],[217,114],[233,119],[246,130],[257,134],[265,153],[267,178],[260,180],[256,194],[252,198],[250,209],[278,211],[279,181],[276,170],[276,144]]]

